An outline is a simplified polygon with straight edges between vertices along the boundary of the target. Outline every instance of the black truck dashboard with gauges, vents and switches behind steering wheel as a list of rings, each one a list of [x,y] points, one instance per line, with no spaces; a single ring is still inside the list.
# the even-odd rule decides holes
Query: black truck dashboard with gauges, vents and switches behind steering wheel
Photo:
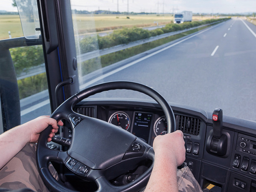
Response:
[[[183,131],[186,143],[182,166],[189,166],[203,191],[256,192],[256,122],[223,115],[227,148],[225,154],[219,155],[207,149],[213,132],[212,113],[170,105],[176,129]],[[164,113],[151,100],[86,100],[73,110],[119,126],[150,145],[157,135],[166,134]],[[64,134],[70,135],[70,130]]]

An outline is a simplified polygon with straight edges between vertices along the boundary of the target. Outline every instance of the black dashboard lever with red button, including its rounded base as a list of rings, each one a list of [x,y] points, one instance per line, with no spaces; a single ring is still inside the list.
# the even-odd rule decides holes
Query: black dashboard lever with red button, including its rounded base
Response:
[[[224,156],[227,153],[227,135],[223,133],[222,116],[222,109],[215,108],[212,113],[212,133],[206,144],[207,152],[218,156]]]

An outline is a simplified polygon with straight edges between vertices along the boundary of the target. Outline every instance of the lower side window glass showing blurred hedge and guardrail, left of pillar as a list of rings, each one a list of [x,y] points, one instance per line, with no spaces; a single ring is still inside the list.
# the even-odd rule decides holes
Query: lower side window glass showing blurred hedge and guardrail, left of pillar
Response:
[[[50,114],[42,45],[9,49],[17,76],[21,124]]]

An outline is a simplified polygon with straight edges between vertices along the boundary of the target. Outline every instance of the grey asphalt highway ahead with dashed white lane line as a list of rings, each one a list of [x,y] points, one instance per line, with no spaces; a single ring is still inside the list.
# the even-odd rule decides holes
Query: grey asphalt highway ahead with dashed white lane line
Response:
[[[255,120],[255,33],[253,24],[231,19],[113,69],[104,78],[87,85],[136,81],[153,87],[169,102],[206,111],[219,107],[225,115]],[[106,96],[148,98],[128,90],[109,91],[95,97]],[[35,113],[44,112],[48,105]],[[31,113],[23,115],[23,119],[26,116]]]

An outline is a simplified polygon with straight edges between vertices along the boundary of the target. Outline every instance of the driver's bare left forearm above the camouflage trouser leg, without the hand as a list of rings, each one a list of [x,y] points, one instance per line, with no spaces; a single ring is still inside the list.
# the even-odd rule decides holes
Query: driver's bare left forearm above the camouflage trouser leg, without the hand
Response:
[[[27,143],[30,137],[23,125],[12,128],[0,135],[0,169],[6,165]]]

